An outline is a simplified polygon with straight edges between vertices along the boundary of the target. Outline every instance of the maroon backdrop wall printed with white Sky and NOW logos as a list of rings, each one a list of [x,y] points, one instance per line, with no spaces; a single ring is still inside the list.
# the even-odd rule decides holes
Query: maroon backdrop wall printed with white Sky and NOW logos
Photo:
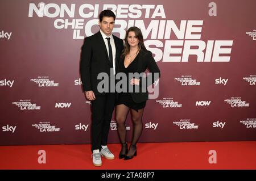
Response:
[[[98,14],[141,28],[161,77],[139,142],[256,140],[256,1],[0,2],[0,145],[89,144],[79,73]],[[126,122],[128,141],[133,131]],[[113,113],[109,142],[119,142]]]

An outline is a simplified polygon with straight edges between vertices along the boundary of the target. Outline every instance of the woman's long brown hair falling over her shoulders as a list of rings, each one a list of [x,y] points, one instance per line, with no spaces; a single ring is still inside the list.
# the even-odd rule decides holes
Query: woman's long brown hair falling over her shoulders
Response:
[[[139,44],[138,44],[139,49],[138,49],[138,51],[147,50],[145,45],[144,45],[144,40],[143,40],[143,35],[142,35],[141,30],[138,27],[130,27],[127,30],[126,35],[125,35],[125,47],[123,48],[121,57],[125,57],[126,54],[129,54],[129,52],[130,52],[130,45],[127,41],[128,34],[129,34],[130,31],[133,31],[135,33],[135,37],[139,40]]]

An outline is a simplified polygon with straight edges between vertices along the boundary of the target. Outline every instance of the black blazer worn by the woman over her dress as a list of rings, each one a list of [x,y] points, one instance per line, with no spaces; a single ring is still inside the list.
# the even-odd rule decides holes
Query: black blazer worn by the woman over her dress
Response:
[[[121,65],[124,63],[125,58],[121,58],[119,61],[119,65],[118,65],[118,70],[117,72],[120,72],[120,68]],[[148,91],[147,91],[147,87],[152,85],[152,83],[154,83],[156,81],[156,79],[160,78],[160,70],[158,68],[158,65],[156,64],[154,57],[152,57],[152,53],[148,50],[144,51],[141,50],[138,53],[138,69],[137,69],[137,73],[141,74],[143,73],[146,69],[150,70],[150,75],[148,75],[146,78],[143,77],[135,77],[135,78],[139,78],[140,81],[140,87],[144,87],[144,89],[146,90],[146,92],[131,92],[131,98],[133,98],[133,101],[135,103],[141,103],[144,102],[148,99]],[[154,73],[158,73],[159,77],[154,76]],[[137,85],[135,85],[137,86]],[[118,95],[117,95],[118,98]]]

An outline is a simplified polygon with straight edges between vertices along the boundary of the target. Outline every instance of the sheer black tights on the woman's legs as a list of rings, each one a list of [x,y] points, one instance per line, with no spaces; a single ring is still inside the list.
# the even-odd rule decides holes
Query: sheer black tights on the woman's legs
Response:
[[[126,117],[127,114],[131,110],[131,120],[133,120],[133,139],[131,141],[131,145],[136,145],[139,137],[141,137],[142,129],[143,129],[143,124],[142,124],[142,115],[144,108],[141,110],[135,111],[133,109],[130,109],[129,107],[125,106],[124,104],[119,104],[115,108],[115,119],[117,120],[117,131],[118,131],[118,136],[121,141],[122,150],[121,154],[125,154],[125,143],[126,143]],[[135,153],[136,147],[130,147],[127,155],[131,156]]]

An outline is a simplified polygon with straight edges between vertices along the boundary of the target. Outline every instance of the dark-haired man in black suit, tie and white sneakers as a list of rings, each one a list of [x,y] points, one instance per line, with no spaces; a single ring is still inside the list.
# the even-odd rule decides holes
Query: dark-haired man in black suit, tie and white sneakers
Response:
[[[97,89],[97,79],[100,73],[108,74],[113,78],[117,66],[123,41],[112,34],[115,14],[111,10],[100,13],[100,31],[84,40],[81,53],[80,73],[82,86],[86,99],[92,102],[92,152],[93,165],[101,166],[101,155],[107,159],[114,159],[114,155],[108,149],[108,133],[112,113],[115,106],[114,92],[101,92]]]

